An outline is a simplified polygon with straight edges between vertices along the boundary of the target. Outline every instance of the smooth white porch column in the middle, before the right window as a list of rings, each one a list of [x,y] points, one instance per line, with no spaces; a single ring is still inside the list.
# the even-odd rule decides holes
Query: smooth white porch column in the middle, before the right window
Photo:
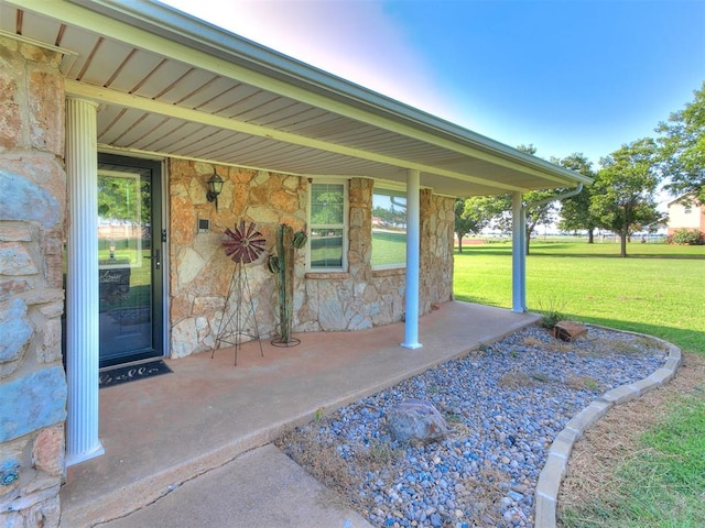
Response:
[[[419,349],[419,252],[421,248],[419,170],[406,170],[406,316],[404,323],[405,349]]]

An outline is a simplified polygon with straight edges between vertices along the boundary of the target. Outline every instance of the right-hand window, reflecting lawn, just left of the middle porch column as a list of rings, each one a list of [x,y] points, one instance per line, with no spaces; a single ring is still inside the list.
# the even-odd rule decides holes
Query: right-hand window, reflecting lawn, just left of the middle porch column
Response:
[[[406,193],[375,187],[372,195],[372,267],[406,266]]]

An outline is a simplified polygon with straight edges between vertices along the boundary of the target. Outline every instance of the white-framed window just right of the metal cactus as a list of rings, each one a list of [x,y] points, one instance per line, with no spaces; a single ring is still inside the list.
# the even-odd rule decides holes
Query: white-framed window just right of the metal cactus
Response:
[[[314,182],[308,193],[308,268],[347,271],[347,182]]]

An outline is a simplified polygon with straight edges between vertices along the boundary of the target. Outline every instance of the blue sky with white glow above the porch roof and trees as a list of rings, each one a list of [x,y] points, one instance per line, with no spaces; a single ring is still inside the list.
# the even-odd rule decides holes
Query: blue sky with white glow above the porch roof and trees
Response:
[[[545,158],[655,136],[705,80],[705,0],[166,3]]]

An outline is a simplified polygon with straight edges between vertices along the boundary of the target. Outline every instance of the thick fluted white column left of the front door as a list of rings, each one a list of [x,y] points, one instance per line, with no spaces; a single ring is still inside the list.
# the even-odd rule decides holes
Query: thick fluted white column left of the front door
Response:
[[[98,439],[97,105],[66,99],[66,465],[105,452]]]

